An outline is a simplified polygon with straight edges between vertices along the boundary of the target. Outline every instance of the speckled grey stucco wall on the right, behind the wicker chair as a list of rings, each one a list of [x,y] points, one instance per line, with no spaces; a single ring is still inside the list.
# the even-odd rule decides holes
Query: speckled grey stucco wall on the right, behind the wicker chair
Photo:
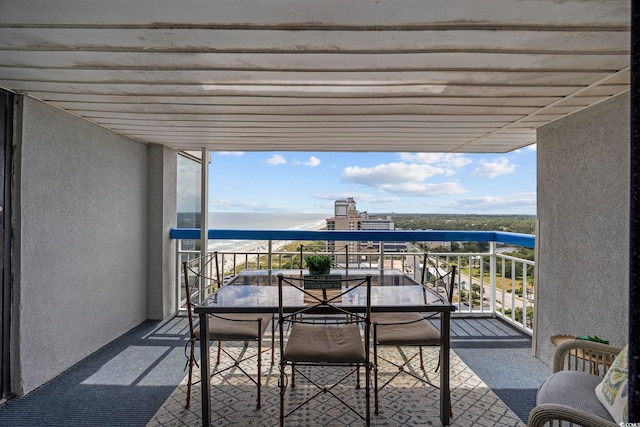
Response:
[[[538,130],[536,353],[554,334],[627,341],[629,96]]]

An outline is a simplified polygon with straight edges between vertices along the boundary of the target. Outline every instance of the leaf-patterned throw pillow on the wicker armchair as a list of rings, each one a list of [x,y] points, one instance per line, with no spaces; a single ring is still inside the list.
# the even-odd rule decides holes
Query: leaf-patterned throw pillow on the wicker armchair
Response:
[[[606,375],[596,386],[596,396],[618,424],[627,422],[629,359],[628,345],[616,356]]]

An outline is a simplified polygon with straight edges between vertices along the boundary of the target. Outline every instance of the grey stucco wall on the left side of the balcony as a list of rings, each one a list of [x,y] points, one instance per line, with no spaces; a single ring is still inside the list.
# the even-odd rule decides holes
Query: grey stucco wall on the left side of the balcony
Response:
[[[147,318],[148,147],[21,99],[13,388],[27,393]]]

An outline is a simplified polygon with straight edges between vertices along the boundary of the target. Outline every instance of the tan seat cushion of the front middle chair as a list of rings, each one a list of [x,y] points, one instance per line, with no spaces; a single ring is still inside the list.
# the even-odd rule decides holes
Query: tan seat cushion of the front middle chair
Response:
[[[313,325],[294,323],[284,349],[293,362],[364,363],[366,354],[356,324]]]

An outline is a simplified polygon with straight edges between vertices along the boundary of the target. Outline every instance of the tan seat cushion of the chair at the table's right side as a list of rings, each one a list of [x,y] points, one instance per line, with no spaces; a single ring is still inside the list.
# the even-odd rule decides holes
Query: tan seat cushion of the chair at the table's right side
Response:
[[[420,313],[372,313],[371,322],[378,345],[440,345],[440,331]]]

